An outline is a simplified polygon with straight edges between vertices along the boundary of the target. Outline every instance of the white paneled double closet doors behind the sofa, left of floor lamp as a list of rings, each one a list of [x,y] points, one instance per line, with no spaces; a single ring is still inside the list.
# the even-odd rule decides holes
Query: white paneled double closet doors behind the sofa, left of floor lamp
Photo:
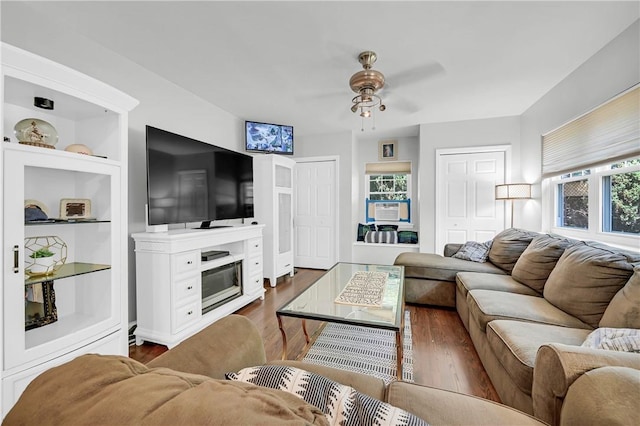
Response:
[[[436,251],[447,243],[484,242],[504,229],[495,185],[505,181],[506,152],[439,153]]]

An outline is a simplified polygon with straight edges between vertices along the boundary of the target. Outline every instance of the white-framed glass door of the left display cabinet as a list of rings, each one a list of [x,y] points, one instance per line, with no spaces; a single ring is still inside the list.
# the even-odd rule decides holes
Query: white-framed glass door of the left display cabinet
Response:
[[[4,240],[13,249],[3,289],[5,370],[69,352],[118,327],[113,241],[121,223],[111,213],[119,209],[113,188],[120,179],[119,167],[107,163],[31,147],[4,151],[4,180],[12,182],[4,192]],[[92,217],[60,219],[62,200],[90,201]],[[46,206],[50,219],[26,221],[30,202]],[[34,253],[45,248],[54,260],[40,271]]]

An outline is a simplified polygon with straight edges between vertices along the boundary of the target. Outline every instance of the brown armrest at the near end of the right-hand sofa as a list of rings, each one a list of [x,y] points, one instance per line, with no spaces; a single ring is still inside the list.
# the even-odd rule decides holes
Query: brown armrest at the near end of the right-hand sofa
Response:
[[[533,369],[533,414],[551,425],[560,424],[569,387],[584,373],[607,366],[640,370],[640,354],[560,343],[542,345]]]

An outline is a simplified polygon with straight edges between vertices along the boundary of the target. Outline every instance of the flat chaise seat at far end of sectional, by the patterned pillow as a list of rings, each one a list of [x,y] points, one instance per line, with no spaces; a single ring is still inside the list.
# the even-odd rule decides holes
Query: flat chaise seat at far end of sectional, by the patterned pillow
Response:
[[[478,263],[468,260],[443,257],[432,253],[400,253],[394,265],[404,266],[405,278],[423,278],[441,281],[456,281],[456,274],[460,271],[487,272],[490,274],[504,274],[500,268],[489,262]]]

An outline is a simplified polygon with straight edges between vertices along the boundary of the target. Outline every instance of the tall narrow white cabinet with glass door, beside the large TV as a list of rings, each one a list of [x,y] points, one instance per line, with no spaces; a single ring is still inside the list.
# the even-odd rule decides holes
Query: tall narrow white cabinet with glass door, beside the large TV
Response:
[[[264,272],[271,287],[293,276],[293,168],[295,161],[276,154],[253,157],[255,218],[265,224]]]

